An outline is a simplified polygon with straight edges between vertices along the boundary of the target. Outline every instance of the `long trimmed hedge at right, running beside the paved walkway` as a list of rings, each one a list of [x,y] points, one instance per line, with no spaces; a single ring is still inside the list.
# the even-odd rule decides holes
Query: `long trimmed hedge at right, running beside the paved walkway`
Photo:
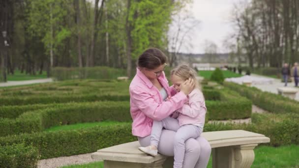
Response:
[[[299,113],[299,103],[282,95],[261,91],[255,87],[225,82],[225,86],[247,97],[253,104],[273,113]]]

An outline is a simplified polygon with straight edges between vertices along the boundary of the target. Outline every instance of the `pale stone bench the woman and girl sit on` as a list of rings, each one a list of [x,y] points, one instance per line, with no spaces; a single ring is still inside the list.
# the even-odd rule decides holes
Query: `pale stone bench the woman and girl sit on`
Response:
[[[213,168],[250,168],[253,149],[270,141],[262,134],[243,130],[214,131],[202,134],[212,147]],[[124,143],[91,154],[92,159],[104,160],[104,168],[173,168],[173,157],[149,156],[138,150],[138,141]]]

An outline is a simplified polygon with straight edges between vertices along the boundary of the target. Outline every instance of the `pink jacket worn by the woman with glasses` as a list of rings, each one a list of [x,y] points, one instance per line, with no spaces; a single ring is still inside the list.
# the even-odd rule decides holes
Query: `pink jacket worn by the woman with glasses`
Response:
[[[168,95],[174,95],[175,90],[169,87],[163,74],[158,78]],[[168,117],[183,107],[187,96],[183,92],[174,95],[170,100],[163,101],[159,90],[137,68],[137,73],[130,84],[130,112],[133,119],[132,134],[138,137],[150,135],[152,122]]]

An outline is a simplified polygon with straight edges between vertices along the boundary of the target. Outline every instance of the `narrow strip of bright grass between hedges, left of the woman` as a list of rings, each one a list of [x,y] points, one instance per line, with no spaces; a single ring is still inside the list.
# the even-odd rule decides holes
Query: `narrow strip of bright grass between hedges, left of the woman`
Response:
[[[44,131],[60,131],[60,130],[76,130],[76,129],[85,129],[90,128],[94,126],[109,126],[109,125],[115,125],[120,122],[116,121],[103,121],[103,122],[86,122],[86,123],[78,123],[78,124],[71,124],[71,125],[61,125],[61,126],[54,126],[51,128],[48,128]]]

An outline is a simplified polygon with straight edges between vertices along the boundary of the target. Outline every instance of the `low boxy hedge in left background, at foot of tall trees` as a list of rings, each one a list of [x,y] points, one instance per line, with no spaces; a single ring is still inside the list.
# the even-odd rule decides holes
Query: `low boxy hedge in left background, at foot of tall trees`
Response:
[[[126,76],[126,70],[106,66],[82,68],[55,67],[52,69],[51,74],[58,81],[69,79],[117,79],[117,77]]]

